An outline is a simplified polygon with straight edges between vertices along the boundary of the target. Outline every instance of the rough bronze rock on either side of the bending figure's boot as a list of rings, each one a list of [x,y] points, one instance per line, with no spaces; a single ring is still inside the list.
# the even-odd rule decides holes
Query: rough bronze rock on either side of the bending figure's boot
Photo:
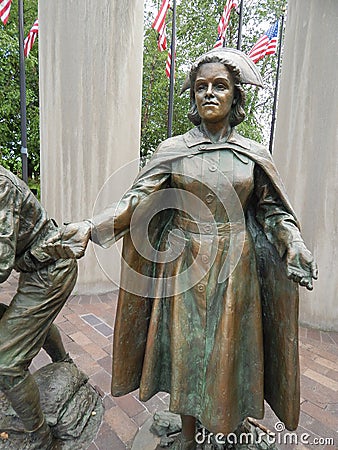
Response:
[[[33,374],[48,425],[62,450],[85,450],[103,417],[99,394],[75,364],[53,363]],[[0,450],[30,450],[30,438],[0,391]]]

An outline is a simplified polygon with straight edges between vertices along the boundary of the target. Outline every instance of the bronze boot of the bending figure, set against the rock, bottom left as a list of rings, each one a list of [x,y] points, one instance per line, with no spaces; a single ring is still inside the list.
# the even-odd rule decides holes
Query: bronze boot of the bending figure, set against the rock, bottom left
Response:
[[[25,431],[30,435],[30,449],[60,448],[46,423],[41,409],[39,389],[31,374],[28,373],[22,381],[3,392],[24,424]]]

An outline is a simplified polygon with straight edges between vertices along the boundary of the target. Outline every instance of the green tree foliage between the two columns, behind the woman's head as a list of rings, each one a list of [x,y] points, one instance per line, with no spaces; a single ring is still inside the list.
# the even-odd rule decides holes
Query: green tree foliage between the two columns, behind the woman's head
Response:
[[[287,0],[246,0],[244,2],[242,50],[248,53],[257,39],[283,13]],[[191,63],[210,50],[217,38],[217,25],[226,0],[177,1],[176,79],[173,134],[192,127],[186,114],[189,93],[179,95]],[[167,136],[169,80],[165,75],[167,52],[157,50],[157,35],[151,23],[159,1],[146,0],[144,33],[144,74],[142,95],[141,155],[149,158],[159,142]],[[167,15],[167,34],[171,33],[171,11]],[[238,15],[232,11],[227,29],[227,46],[236,48]],[[266,88],[247,88],[247,118],[237,129],[244,136],[267,143],[271,122],[277,55],[265,57],[257,64]]]

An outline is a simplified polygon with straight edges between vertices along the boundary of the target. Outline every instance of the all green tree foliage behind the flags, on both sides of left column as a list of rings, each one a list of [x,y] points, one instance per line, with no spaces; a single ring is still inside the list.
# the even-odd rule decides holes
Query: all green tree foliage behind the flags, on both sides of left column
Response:
[[[245,0],[243,45],[248,52],[261,34],[282,14],[287,0]],[[211,49],[217,38],[217,24],[226,0],[177,0],[177,71],[173,134],[191,128],[186,114],[189,93],[179,95],[190,64],[201,53]],[[151,23],[160,0],[145,0],[144,73],[142,95],[141,155],[148,158],[158,143],[167,136],[169,82],[164,67],[167,52],[157,50],[156,32]],[[38,0],[25,2],[25,36],[33,25]],[[20,159],[20,90],[18,9],[12,3],[6,26],[0,22],[0,155],[2,164],[15,173],[21,172]],[[238,17],[234,11],[227,29],[227,45],[236,47]],[[171,11],[168,12],[167,34],[170,42]],[[268,140],[271,107],[276,73],[276,56],[258,62],[266,89],[247,89],[247,119],[238,126],[245,136],[258,141]],[[27,138],[29,175],[39,178],[39,81],[38,45],[26,59]],[[34,182],[33,182],[34,184]]]

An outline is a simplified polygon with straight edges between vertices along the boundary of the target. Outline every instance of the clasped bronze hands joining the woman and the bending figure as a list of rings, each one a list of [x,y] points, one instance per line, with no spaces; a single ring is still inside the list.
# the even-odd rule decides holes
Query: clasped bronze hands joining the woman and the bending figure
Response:
[[[79,259],[85,254],[90,235],[89,221],[69,223],[61,227],[41,248],[56,259]]]

